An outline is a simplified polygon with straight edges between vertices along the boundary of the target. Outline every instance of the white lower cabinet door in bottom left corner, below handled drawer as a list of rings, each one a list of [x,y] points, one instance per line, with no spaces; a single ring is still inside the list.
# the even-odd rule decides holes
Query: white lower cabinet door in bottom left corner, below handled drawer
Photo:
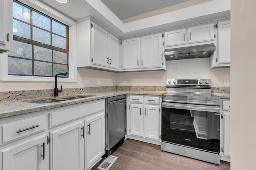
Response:
[[[43,160],[43,144],[45,135],[12,145],[0,150],[1,170],[43,170],[46,169]]]

